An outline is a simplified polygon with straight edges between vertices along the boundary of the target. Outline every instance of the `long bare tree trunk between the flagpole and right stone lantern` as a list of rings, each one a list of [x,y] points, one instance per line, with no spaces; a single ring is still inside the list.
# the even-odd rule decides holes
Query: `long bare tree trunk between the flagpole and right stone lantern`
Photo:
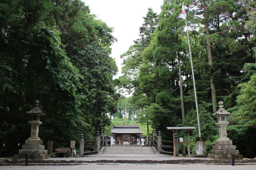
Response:
[[[205,2],[204,2],[205,5]],[[206,36],[209,36],[209,26],[208,26],[208,20],[207,20],[207,13],[204,12],[204,28],[206,32]],[[211,51],[211,45],[209,43],[209,38],[206,40],[207,44],[207,54],[208,54],[208,63],[209,63],[209,72],[210,72],[210,81],[211,81],[211,89],[212,89],[212,109],[213,113],[217,111],[217,95],[216,95],[216,87],[214,83],[214,78],[212,76],[213,69],[212,69],[212,51]]]

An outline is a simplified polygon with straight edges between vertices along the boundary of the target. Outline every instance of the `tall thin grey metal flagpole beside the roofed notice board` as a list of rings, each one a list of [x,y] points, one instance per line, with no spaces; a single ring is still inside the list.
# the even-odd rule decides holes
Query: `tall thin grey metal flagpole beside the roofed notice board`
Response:
[[[182,2],[182,5],[184,5],[184,2]],[[184,12],[185,12],[185,10],[184,10]],[[187,34],[188,34],[187,17],[185,17],[185,21],[186,21],[186,28],[187,28]],[[192,71],[193,85],[194,85],[194,93],[195,93],[197,126],[198,126],[199,137],[201,137],[200,122],[199,122],[199,114],[198,114],[198,106],[197,106],[197,97],[196,97],[196,82],[195,82],[194,68],[193,68],[193,62],[192,62],[192,57],[191,57],[191,50],[190,50],[189,36],[188,36],[188,48],[189,48],[190,63],[191,63],[191,71]]]

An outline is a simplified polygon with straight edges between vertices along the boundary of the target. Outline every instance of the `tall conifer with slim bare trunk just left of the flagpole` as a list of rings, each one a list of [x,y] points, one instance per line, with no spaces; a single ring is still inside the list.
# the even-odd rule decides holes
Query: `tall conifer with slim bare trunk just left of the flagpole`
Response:
[[[159,27],[157,28],[157,47],[162,48],[158,49],[160,53],[160,57],[163,59],[169,55],[170,60],[178,59],[178,71],[179,71],[179,82],[180,82],[180,101],[181,101],[181,115],[182,122],[185,120],[185,109],[184,109],[184,99],[183,99],[183,87],[182,87],[182,72],[181,72],[181,51],[184,49],[184,46],[181,45],[181,38],[179,38],[180,34],[183,32],[184,22],[182,22],[180,15],[180,4],[179,1],[164,1],[162,6],[162,12],[159,15]],[[157,53],[157,54],[159,54]],[[156,55],[157,55],[156,54]],[[166,57],[167,58],[167,57]],[[166,63],[168,63],[168,59],[164,59]],[[172,61],[172,63],[176,64]],[[175,66],[172,66],[172,70],[174,70]],[[175,82],[172,80],[173,83]],[[173,87],[173,91],[175,91],[175,86]],[[171,92],[171,93],[172,93]]]

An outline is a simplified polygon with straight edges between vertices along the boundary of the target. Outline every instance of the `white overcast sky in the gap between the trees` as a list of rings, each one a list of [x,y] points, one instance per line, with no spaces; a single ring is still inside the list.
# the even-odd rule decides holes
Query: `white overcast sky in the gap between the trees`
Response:
[[[117,38],[112,48],[111,57],[118,66],[118,78],[121,75],[122,60],[120,55],[133,45],[133,40],[139,38],[139,28],[143,24],[148,8],[161,12],[163,0],[82,0],[88,5],[91,13],[98,15],[109,27],[114,27],[113,35]]]

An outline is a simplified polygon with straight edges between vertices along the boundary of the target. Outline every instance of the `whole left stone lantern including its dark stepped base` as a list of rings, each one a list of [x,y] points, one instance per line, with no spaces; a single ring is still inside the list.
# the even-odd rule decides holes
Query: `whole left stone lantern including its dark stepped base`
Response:
[[[44,149],[43,141],[38,137],[38,129],[42,124],[40,116],[45,116],[39,108],[38,100],[35,101],[35,107],[27,111],[27,114],[31,115],[31,120],[28,121],[31,124],[31,135],[25,141],[25,145],[22,145],[19,154],[14,155],[14,159],[25,159],[26,155],[28,155],[28,159],[43,160],[50,158],[50,155],[47,155],[47,150]]]

